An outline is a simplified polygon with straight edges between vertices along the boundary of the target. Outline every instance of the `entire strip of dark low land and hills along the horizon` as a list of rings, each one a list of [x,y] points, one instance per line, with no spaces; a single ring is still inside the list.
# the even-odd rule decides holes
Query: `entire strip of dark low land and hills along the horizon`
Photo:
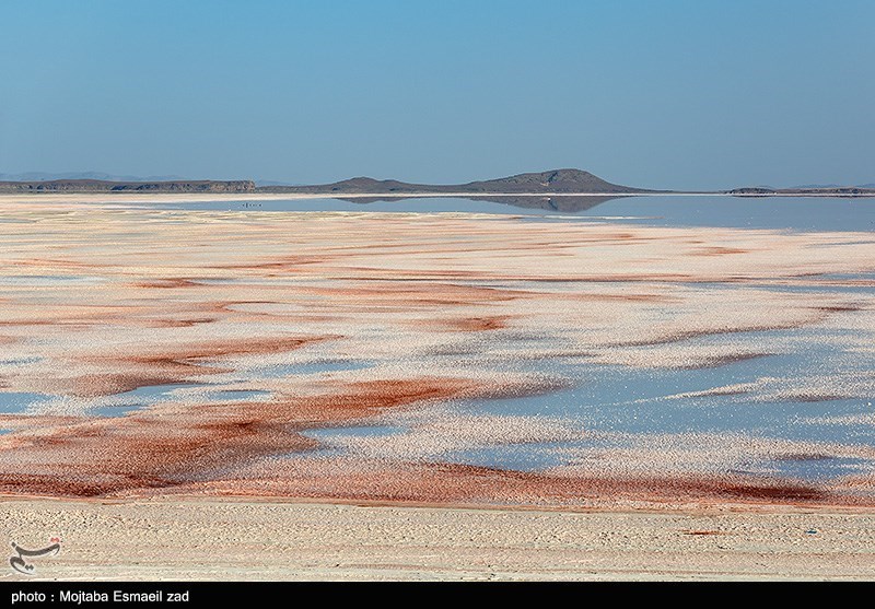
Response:
[[[634,195],[730,195],[735,197],[875,197],[875,187],[826,186],[826,187],[744,187],[732,190],[690,192],[684,190],[654,190],[622,186],[604,180],[582,169],[552,169],[549,172],[518,174],[498,179],[469,181],[466,184],[411,184],[396,179],[354,177],[331,184],[310,186],[267,185],[257,186],[250,179],[237,180],[150,180],[117,181],[108,179],[45,179],[0,181],[0,194],[40,192],[203,192],[203,194],[289,194],[349,197],[359,202],[377,199],[395,199],[418,195],[469,196],[472,198],[514,196],[545,197],[622,197]],[[549,203],[553,206],[553,202]],[[529,206],[526,206],[529,207]],[[534,207],[541,207],[540,203]]]

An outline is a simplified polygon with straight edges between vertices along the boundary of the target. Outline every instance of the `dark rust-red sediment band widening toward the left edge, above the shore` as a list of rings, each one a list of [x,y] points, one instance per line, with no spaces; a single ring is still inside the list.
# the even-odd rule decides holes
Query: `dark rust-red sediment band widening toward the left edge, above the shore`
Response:
[[[3,454],[15,456],[0,461],[0,491],[91,496],[174,487],[267,455],[315,447],[298,433],[304,429],[476,391],[474,383],[453,378],[364,382],[265,403],[184,412],[156,407],[119,419],[67,419],[62,426],[54,420],[0,438]]]

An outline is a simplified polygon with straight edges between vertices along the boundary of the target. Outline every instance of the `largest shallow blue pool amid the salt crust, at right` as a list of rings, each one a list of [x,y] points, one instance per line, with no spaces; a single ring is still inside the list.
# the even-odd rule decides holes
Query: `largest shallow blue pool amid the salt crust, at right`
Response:
[[[873,289],[868,289],[873,291]],[[479,446],[435,453],[433,460],[491,468],[542,470],[560,467],[585,456],[593,448],[634,446],[634,437],[715,436],[754,437],[816,444],[875,446],[875,424],[844,424],[841,418],[875,412],[870,388],[840,399],[793,399],[775,397],[788,388],[802,388],[824,377],[861,377],[871,373],[866,356],[844,353],[844,330],[795,329],[740,332],[691,339],[689,344],[719,346],[725,340],[772,346],[774,354],[701,368],[639,368],[603,365],[580,359],[572,362],[535,361],[509,364],[508,370],[548,373],[571,383],[571,387],[501,399],[463,400],[452,405],[459,421],[477,417],[521,417],[535,425],[542,420],[570,422],[586,434],[579,441],[483,443]],[[765,379],[765,380],[763,380]],[[728,395],[695,395],[714,388],[744,385]],[[854,391],[850,391],[853,394]],[[423,412],[423,421],[428,413]],[[362,435],[390,436],[409,433],[409,421],[335,428],[308,435],[329,447],[352,444]],[[739,435],[740,434],[740,435]],[[353,437],[345,437],[353,436]],[[730,471],[752,476],[777,476],[806,482],[827,481],[839,476],[875,468],[875,460],[822,456],[810,458],[755,458],[745,468]]]

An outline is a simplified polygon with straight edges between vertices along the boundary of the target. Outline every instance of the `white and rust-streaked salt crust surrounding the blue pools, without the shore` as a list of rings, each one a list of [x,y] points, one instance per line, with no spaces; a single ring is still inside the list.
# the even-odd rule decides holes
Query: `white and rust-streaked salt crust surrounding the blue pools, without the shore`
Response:
[[[325,452],[305,435],[412,409],[428,419],[447,400],[568,384],[510,374],[506,362],[586,356],[635,368],[719,366],[780,350],[746,332],[829,324],[853,329],[843,340],[872,358],[865,349],[875,312],[859,294],[762,289],[872,272],[875,245],[859,236],[38,204],[2,214],[39,221],[39,233],[0,223],[5,277],[44,279],[0,278],[0,388],[54,396],[28,414],[0,415],[0,429],[11,430],[0,435],[4,493],[541,507],[872,505],[875,496],[863,475],[803,484],[722,466],[628,467],[658,461],[665,446],[617,453],[616,462],[598,469],[521,472],[444,462],[441,455]],[[720,292],[709,283],[721,284]],[[724,342],[693,344],[703,338]],[[253,372],[335,360],[370,366],[282,377]],[[206,382],[231,395],[269,395],[247,401],[192,391],[125,417],[88,417],[91,406],[118,406],[117,394]],[[816,386],[782,390],[797,401],[839,395]],[[462,434],[464,424],[451,433]],[[478,433],[487,445],[505,442],[499,430]],[[569,460],[585,465],[580,450]],[[714,450],[726,452],[715,445],[697,455],[716,462]],[[788,454],[831,456],[794,450]]]

